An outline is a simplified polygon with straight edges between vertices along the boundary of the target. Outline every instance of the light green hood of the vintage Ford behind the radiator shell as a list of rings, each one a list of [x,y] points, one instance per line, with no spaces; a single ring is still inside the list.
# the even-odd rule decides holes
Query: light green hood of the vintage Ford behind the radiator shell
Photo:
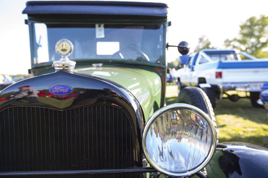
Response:
[[[141,104],[146,121],[160,106],[161,78],[155,72],[127,67],[89,67],[75,71],[102,77],[127,88]]]

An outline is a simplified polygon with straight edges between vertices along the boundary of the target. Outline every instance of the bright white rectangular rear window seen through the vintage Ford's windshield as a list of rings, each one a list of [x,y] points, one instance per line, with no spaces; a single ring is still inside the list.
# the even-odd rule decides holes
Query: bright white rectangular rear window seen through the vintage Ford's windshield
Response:
[[[97,55],[113,55],[119,46],[119,42],[97,42]]]

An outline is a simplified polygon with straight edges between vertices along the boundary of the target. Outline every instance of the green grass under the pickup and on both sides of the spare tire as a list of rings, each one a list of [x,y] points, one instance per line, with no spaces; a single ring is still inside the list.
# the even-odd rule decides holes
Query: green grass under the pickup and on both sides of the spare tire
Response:
[[[168,85],[166,103],[175,103],[176,98],[177,86]],[[222,99],[218,101],[214,112],[220,143],[246,142],[268,147],[268,116],[265,109],[252,107],[247,98],[236,102]]]

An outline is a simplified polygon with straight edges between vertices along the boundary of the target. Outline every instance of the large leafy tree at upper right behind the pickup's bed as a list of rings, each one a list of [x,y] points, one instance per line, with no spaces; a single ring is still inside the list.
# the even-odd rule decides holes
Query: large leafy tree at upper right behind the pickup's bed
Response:
[[[226,39],[225,47],[245,51],[257,58],[267,58],[268,16],[253,16],[240,25],[238,37]]]

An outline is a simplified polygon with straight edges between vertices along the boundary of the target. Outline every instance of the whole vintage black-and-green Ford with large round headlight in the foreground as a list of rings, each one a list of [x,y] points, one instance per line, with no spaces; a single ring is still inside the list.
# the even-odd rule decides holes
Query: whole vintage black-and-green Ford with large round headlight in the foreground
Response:
[[[36,77],[0,93],[0,177],[268,176],[266,148],[217,144],[200,88],[165,106],[167,8],[27,3]]]

